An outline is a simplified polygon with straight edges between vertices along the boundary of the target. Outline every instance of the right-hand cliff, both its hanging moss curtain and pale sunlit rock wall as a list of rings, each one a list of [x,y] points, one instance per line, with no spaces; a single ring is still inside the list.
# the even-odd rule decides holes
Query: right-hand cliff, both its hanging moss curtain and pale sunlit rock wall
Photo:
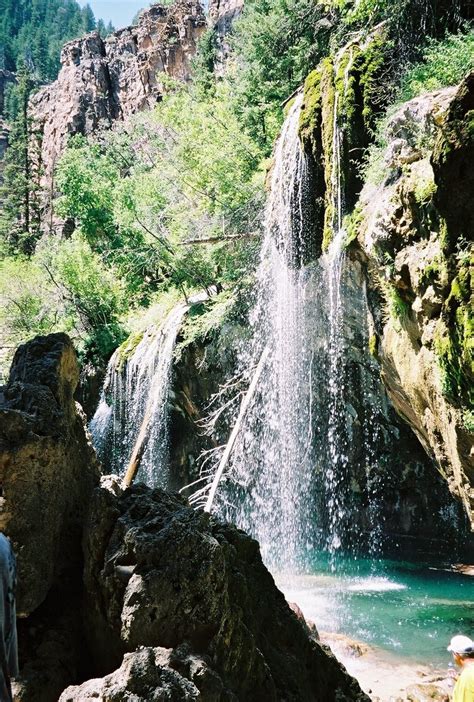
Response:
[[[383,46],[377,30],[306,81],[300,133],[315,161],[319,244],[327,248],[332,236],[337,110],[348,244],[368,281],[368,346],[393,406],[433,459],[430,490],[436,468],[472,523],[474,77],[400,106],[384,126],[386,146],[373,147],[364,184],[362,154],[380,109],[367,86],[381,80]]]

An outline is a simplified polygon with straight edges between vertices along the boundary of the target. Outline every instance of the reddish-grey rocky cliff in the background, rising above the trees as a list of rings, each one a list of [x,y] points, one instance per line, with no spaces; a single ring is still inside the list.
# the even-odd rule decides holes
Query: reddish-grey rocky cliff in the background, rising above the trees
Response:
[[[163,74],[189,79],[205,27],[201,4],[178,0],[169,8],[153,5],[137,26],[105,40],[92,33],[64,46],[58,79],[31,103],[48,189],[54,189],[54,166],[71,135],[91,134],[152,107],[163,94]]]

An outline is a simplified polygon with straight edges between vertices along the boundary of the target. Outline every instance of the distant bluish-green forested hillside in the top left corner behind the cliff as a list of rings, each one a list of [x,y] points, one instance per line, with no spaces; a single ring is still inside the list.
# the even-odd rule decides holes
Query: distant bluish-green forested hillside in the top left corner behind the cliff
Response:
[[[112,31],[76,0],[1,0],[0,18],[0,69],[26,64],[39,82],[56,78],[66,41],[93,29]]]

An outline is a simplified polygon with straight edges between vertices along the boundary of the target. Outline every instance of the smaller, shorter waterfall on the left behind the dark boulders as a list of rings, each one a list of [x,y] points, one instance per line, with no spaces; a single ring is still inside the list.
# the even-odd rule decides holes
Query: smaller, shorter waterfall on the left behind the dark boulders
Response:
[[[161,326],[149,329],[129,358],[118,349],[110,359],[99,407],[90,430],[99,458],[123,475],[144,424],[138,478],[151,487],[168,483],[168,398],[176,337],[188,305],[179,304]],[[146,428],[146,427],[144,427]]]

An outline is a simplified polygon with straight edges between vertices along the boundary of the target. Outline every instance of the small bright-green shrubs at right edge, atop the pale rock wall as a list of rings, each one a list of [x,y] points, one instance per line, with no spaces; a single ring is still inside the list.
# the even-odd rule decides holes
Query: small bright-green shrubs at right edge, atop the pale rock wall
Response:
[[[459,83],[474,66],[474,32],[442,40],[429,39],[423,60],[411,66],[402,79],[398,102]]]

